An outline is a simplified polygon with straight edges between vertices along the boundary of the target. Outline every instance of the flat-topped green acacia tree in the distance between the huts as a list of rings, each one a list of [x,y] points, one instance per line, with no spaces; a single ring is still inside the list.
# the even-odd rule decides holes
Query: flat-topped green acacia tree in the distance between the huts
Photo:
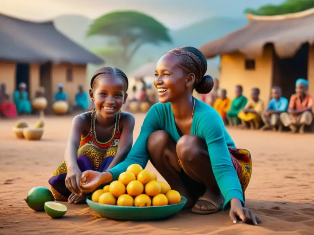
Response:
[[[117,51],[127,65],[143,44],[171,43],[168,29],[154,18],[134,11],[116,11],[95,19],[87,36],[104,35],[115,39]]]

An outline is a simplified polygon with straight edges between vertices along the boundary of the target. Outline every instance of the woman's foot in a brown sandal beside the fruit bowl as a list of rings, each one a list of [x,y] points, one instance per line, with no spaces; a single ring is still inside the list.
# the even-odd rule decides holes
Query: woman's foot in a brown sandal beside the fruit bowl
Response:
[[[200,197],[192,208],[192,212],[196,214],[213,214],[219,212],[221,206],[224,204],[224,197],[214,195],[210,191],[206,191],[203,197]]]

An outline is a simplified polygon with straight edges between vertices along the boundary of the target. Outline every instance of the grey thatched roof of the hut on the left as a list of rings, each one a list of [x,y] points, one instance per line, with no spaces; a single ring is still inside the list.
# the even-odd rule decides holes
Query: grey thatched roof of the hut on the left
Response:
[[[3,14],[0,14],[0,59],[25,63],[104,62],[57,31],[52,21],[36,23]]]

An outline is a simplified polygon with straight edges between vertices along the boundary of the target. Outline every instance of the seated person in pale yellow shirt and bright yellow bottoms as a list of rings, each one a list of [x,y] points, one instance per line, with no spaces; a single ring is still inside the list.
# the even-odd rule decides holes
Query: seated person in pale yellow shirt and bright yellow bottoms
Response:
[[[247,102],[244,109],[238,114],[242,127],[245,128],[246,124],[250,124],[251,129],[257,129],[261,122],[263,110],[264,102],[259,98],[259,89],[252,88],[251,100]]]

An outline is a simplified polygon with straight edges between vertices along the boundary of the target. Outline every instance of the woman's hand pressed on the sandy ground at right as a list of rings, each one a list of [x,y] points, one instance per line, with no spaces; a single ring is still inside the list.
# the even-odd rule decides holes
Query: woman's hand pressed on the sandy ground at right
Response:
[[[238,221],[237,217],[249,224],[257,225],[262,222],[251,210],[244,208],[238,198],[231,199],[230,206],[229,216],[233,223]]]

